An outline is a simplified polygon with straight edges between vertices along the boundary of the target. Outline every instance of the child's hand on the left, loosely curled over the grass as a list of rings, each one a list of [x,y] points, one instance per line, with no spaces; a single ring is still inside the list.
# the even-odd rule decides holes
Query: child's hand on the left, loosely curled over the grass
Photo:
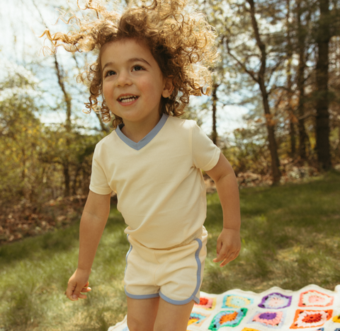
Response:
[[[77,301],[78,298],[86,298],[86,295],[81,294],[81,292],[86,293],[91,291],[91,287],[88,287],[90,273],[91,271],[77,269],[74,274],[72,274],[65,292],[69,300]]]

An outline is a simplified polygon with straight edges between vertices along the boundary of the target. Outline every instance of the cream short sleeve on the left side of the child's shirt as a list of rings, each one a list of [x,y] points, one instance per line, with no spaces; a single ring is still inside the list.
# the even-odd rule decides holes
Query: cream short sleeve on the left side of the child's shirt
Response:
[[[112,192],[111,187],[108,185],[108,179],[106,178],[105,172],[101,166],[98,145],[94,150],[94,158],[92,159],[90,190],[97,194],[109,194]]]

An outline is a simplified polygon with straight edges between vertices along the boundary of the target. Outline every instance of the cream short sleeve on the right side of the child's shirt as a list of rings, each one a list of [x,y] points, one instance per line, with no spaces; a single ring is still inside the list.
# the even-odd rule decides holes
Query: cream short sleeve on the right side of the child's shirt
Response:
[[[208,171],[215,167],[220,158],[220,149],[195,123],[192,133],[193,164]]]

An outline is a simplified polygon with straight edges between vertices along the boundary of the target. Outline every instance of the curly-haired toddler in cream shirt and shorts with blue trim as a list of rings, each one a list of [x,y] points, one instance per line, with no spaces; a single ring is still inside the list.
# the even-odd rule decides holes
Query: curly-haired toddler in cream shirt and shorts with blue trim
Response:
[[[82,76],[90,85],[86,108],[100,112],[104,122],[113,120],[115,129],[94,151],[79,262],[66,294],[76,301],[91,290],[91,265],[114,191],[128,225],[124,281],[130,331],[185,331],[199,303],[208,236],[201,169],[215,181],[223,209],[214,262],[226,265],[241,248],[232,167],[196,122],[181,119],[190,95],[209,93],[210,69],[218,59],[214,30],[189,5],[131,2],[118,15],[89,1],[85,9],[96,13],[93,21],[74,17],[77,28],[67,34],[45,31],[51,52],[59,46],[98,50]]]

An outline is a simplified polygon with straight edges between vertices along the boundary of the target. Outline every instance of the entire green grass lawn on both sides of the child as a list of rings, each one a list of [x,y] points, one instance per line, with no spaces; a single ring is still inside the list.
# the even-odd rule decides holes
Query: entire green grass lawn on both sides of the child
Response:
[[[297,290],[307,284],[332,290],[340,284],[340,173],[298,185],[246,188],[240,196],[242,251],[222,269],[212,262],[222,210],[217,194],[208,196],[202,291]],[[0,247],[0,331],[106,331],[123,319],[129,248],[123,218],[111,210],[90,277],[92,291],[72,302],[64,291],[77,267],[78,228]]]

